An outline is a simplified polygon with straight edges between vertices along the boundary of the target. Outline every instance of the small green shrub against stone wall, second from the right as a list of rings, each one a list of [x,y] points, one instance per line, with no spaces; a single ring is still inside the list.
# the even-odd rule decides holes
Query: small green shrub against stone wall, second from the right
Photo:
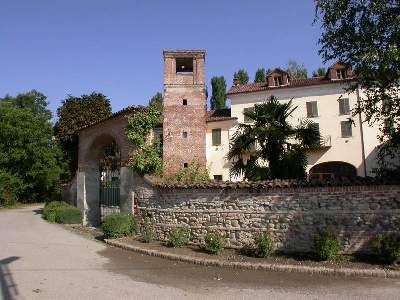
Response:
[[[342,249],[339,239],[331,232],[323,232],[315,236],[314,248],[317,259],[335,260]]]

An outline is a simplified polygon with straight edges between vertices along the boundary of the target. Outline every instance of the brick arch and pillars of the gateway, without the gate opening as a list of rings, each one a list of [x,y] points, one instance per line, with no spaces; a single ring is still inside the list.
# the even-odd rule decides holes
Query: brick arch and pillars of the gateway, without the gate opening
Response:
[[[100,208],[100,158],[104,147],[115,142],[120,151],[119,203],[120,211],[132,212],[133,171],[126,167],[135,145],[126,137],[125,116],[105,120],[79,132],[77,172],[77,206],[83,214],[84,224],[99,225]]]

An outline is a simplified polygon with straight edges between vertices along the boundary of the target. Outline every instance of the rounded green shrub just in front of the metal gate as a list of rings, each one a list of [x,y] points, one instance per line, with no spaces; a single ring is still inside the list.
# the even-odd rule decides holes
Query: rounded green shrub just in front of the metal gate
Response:
[[[127,213],[113,213],[106,216],[101,228],[106,238],[119,238],[137,232],[134,217]]]

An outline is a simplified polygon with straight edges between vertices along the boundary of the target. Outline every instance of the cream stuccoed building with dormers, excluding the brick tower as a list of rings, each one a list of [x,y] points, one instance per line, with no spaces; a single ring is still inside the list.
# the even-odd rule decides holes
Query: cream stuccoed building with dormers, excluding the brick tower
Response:
[[[263,83],[234,82],[228,91],[230,110],[211,111],[207,117],[206,157],[210,176],[216,180],[240,180],[229,175],[226,159],[229,143],[237,123],[245,120],[243,112],[272,95],[279,101],[292,100],[291,122],[310,119],[319,126],[322,145],[308,152],[307,173],[314,178],[340,176],[373,176],[377,167],[378,126],[362,123],[363,116],[352,115],[357,106],[357,93],[345,91],[353,76],[350,67],[336,63],[326,76],[291,79],[288,73],[275,69]],[[362,97],[362,92],[359,92]],[[360,118],[361,117],[361,118]]]

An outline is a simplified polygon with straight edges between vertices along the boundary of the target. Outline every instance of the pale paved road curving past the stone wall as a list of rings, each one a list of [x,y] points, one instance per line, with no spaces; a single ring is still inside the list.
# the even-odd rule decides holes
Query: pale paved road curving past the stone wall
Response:
[[[41,219],[0,210],[3,299],[399,299],[399,280],[193,266],[110,248]]]

